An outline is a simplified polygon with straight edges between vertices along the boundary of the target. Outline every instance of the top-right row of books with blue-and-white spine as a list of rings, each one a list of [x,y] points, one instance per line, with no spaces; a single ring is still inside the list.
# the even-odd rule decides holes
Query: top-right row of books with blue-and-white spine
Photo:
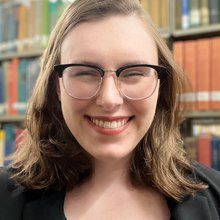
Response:
[[[219,0],[175,0],[175,28],[188,29],[220,23]]]

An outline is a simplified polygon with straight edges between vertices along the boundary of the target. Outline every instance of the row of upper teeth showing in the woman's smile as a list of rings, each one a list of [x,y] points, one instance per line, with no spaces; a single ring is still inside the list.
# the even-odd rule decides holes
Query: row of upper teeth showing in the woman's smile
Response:
[[[128,123],[129,120],[131,120],[131,117],[126,118],[126,119],[117,119],[117,120],[111,120],[111,121],[101,120],[97,118],[90,118],[90,121],[93,124],[95,124],[98,127],[106,128],[106,129],[116,129],[116,128],[123,127],[125,124]]]

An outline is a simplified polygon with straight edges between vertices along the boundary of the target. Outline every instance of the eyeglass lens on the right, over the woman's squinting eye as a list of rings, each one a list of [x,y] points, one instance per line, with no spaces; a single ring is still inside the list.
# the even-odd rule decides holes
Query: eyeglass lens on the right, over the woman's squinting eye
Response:
[[[151,67],[138,66],[123,70],[119,77],[121,92],[131,99],[150,97],[158,82],[157,72]]]

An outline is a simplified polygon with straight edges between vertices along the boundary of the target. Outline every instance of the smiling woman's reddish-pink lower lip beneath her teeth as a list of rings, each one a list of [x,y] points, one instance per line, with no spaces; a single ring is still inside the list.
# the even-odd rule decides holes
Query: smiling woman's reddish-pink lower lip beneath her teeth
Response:
[[[90,126],[98,133],[102,134],[102,135],[119,135],[121,133],[123,133],[129,126],[130,121],[128,121],[125,125],[118,127],[118,128],[102,128],[99,127],[97,125],[95,125],[94,123],[92,123],[89,119],[87,119]]]

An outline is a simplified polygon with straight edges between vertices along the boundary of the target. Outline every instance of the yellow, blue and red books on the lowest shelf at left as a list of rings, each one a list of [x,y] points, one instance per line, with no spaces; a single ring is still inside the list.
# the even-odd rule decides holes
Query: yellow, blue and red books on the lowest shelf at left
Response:
[[[19,141],[22,132],[21,127],[11,123],[4,124],[0,129],[0,166],[10,164],[8,157],[16,150],[17,141]]]

